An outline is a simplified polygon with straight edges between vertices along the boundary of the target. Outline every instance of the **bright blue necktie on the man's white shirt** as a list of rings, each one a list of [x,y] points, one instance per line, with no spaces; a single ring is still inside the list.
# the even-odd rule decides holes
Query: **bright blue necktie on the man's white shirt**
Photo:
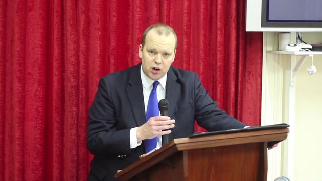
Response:
[[[159,116],[159,108],[158,108],[158,102],[157,102],[157,96],[156,96],[156,87],[158,84],[159,84],[158,81],[153,82],[153,89],[150,93],[147,113],[146,113],[147,121],[153,116]],[[154,137],[152,139],[147,139],[145,142],[145,153],[148,153],[149,151],[156,148],[156,143],[157,143],[157,137]]]

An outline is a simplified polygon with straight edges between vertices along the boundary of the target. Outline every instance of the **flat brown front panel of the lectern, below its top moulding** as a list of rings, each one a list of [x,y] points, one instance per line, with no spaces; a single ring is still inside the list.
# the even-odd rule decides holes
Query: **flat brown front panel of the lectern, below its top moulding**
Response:
[[[263,150],[251,143],[184,151],[185,180],[263,180]]]

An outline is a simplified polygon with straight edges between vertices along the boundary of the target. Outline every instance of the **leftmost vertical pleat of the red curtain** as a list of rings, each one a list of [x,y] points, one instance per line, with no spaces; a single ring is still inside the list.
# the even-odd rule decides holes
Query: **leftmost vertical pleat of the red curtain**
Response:
[[[5,26],[5,118],[4,122],[4,178],[13,180],[24,178],[24,130],[25,126],[25,13],[23,4],[3,4],[6,13],[14,12],[10,17],[6,16],[2,21]],[[7,60],[7,61],[6,61]]]

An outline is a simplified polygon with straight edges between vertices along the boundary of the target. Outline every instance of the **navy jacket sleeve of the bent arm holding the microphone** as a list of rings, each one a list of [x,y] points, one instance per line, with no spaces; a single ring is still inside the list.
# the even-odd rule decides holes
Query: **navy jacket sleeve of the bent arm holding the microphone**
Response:
[[[89,110],[87,147],[94,155],[130,154],[130,129],[116,129],[116,111],[108,83],[102,78]]]

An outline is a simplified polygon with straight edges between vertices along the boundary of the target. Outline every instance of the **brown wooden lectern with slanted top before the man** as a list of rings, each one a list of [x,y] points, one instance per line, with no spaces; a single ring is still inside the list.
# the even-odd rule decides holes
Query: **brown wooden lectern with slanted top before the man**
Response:
[[[267,145],[285,140],[288,132],[280,128],[174,139],[115,176],[140,181],[266,181]]]

